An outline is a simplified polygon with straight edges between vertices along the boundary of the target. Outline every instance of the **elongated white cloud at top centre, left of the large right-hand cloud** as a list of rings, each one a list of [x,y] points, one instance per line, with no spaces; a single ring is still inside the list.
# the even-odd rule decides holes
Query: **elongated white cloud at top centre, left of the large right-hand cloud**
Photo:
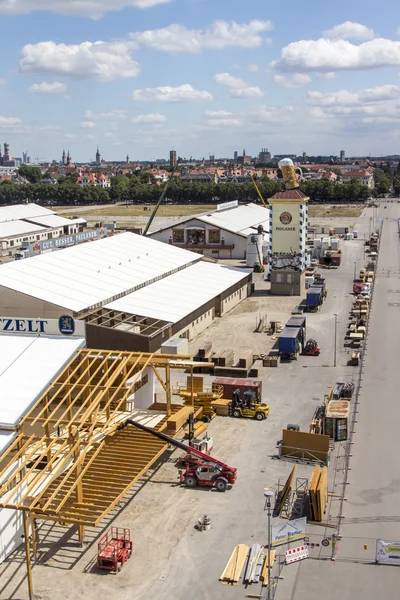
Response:
[[[256,19],[249,23],[214,21],[205,30],[188,29],[174,23],[162,29],[135,32],[130,37],[138,46],[146,46],[153,50],[196,53],[206,49],[222,50],[232,46],[258,48],[263,43],[261,34],[271,29],[270,21]]]

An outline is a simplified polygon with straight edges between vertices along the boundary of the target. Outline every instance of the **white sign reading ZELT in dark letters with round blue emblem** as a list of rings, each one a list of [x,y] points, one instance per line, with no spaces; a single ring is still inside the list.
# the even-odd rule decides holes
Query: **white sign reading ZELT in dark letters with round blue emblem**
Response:
[[[76,321],[69,315],[60,317],[59,319],[20,319],[19,317],[0,317],[0,335],[6,333],[86,337],[85,321]]]

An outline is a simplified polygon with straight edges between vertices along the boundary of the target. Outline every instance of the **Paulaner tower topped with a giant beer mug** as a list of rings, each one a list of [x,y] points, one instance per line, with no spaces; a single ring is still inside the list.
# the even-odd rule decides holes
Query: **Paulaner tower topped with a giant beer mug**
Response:
[[[297,296],[304,292],[308,263],[308,200],[299,189],[303,172],[290,158],[279,161],[285,191],[269,198],[269,278],[271,293]]]

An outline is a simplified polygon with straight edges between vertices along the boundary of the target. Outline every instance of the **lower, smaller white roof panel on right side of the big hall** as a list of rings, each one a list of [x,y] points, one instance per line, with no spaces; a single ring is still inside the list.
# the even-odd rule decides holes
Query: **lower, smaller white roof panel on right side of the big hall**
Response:
[[[105,308],[170,323],[180,321],[235,285],[249,270],[198,262],[152,285],[107,304]]]

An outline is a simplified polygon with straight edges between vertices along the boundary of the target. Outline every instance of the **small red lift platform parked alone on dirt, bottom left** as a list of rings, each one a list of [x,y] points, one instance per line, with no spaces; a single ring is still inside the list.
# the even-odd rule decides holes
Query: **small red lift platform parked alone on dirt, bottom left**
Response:
[[[97,547],[97,567],[108,571],[120,571],[132,556],[130,529],[111,527],[101,538]]]

